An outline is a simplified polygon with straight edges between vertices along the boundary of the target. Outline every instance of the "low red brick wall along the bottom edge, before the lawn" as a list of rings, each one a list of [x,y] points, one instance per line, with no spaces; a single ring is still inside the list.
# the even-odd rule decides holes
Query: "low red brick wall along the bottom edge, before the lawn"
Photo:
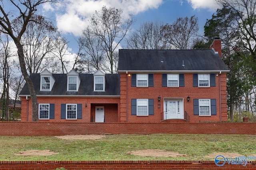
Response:
[[[256,162],[248,162],[246,166],[226,163],[219,167],[214,161],[0,161],[1,170],[54,170],[61,167],[66,170],[253,170]]]

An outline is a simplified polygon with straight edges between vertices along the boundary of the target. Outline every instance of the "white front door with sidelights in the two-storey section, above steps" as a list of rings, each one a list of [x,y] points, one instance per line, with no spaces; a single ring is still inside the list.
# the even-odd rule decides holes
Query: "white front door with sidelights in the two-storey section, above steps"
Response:
[[[182,100],[165,100],[164,119],[184,119]]]

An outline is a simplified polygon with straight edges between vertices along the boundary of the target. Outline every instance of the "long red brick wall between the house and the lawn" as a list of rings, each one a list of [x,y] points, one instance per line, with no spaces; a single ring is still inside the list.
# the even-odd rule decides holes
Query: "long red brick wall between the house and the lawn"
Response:
[[[256,134],[256,123],[34,123],[0,122],[0,135]]]

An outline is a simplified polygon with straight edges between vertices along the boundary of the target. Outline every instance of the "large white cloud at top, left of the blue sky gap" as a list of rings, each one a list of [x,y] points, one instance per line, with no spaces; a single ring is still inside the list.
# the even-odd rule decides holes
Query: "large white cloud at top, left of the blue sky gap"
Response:
[[[72,33],[75,36],[82,34],[82,30],[88,25],[90,16],[95,11],[100,11],[102,6],[122,8],[124,16],[136,15],[152,8],[158,8],[163,0],[66,0],[56,14],[57,27],[65,33]],[[46,9],[50,9],[48,6]],[[45,10],[46,10],[45,9]]]

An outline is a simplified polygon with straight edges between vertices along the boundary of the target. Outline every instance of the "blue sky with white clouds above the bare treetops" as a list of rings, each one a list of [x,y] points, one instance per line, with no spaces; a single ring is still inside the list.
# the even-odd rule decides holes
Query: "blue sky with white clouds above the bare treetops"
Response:
[[[52,20],[68,39],[70,53],[76,53],[76,39],[88,25],[88,20],[102,6],[121,8],[124,16],[133,14],[136,22],[133,30],[144,22],[172,24],[179,17],[198,17],[200,34],[203,34],[206,19],[210,19],[218,8],[214,0],[59,0],[61,3],[43,4],[38,12]],[[10,2],[2,1],[8,8]],[[6,9],[8,10],[8,9]],[[12,9],[10,9],[12,10]],[[18,11],[16,11],[18,12]],[[18,13],[17,13],[18,15]],[[14,16],[15,17],[15,16]],[[124,45],[121,44],[121,47]]]

